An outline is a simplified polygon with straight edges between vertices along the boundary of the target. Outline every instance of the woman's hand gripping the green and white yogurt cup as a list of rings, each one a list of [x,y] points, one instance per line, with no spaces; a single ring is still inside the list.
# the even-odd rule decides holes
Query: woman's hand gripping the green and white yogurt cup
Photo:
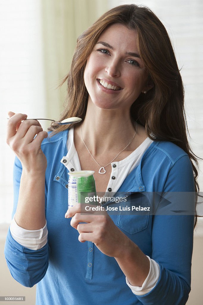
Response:
[[[81,204],[77,203],[68,209],[65,217],[72,217],[71,226],[78,230],[80,242],[91,241],[108,256],[122,257],[123,249],[129,247],[130,239],[117,228],[106,210],[86,213],[82,210],[81,215]]]

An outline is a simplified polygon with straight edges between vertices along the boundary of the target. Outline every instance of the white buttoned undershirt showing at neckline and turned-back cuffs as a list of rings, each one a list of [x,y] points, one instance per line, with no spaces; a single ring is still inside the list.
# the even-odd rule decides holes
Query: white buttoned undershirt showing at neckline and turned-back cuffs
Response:
[[[61,163],[64,164],[64,166],[71,171],[71,169],[74,169],[75,171],[81,170],[80,161],[78,153],[75,149],[73,137],[74,137],[74,127],[70,128],[68,133],[68,141],[67,141],[67,148],[68,153],[66,156],[64,156],[61,160]],[[118,162],[112,162],[111,163],[111,175],[110,180],[107,185],[106,192],[108,192],[108,189],[112,189],[112,196],[122,185],[125,178],[130,174],[130,172],[138,166],[140,163],[140,160],[145,153],[146,149],[149,147],[149,145],[153,141],[149,138],[146,138],[142,144],[135,149],[128,157],[125,159],[118,161]],[[63,162],[63,160],[67,160],[66,163]],[[115,165],[116,167],[115,167]],[[113,167],[114,165],[114,167]],[[98,168],[99,170],[99,168]],[[115,179],[112,179],[111,177],[114,176]],[[109,192],[108,192],[109,196]],[[39,230],[26,230],[21,227],[19,227],[15,221],[15,215],[11,221],[10,225],[10,232],[12,237],[19,242],[22,246],[38,250],[42,247],[44,247],[47,243],[47,223],[45,224],[44,228],[41,228]],[[148,257],[148,256],[147,256]],[[132,286],[128,279],[126,278],[126,283],[132,290],[132,292],[136,295],[144,295],[148,292],[150,292],[158,282],[159,276],[160,276],[160,269],[158,263],[156,261],[152,260],[150,257],[148,257],[150,261],[150,270],[147,278],[145,279],[144,283],[142,284],[142,287]]]

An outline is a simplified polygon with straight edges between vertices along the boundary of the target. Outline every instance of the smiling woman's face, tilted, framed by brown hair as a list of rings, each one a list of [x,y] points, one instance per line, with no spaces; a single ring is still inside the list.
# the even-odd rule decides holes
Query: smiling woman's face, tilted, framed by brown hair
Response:
[[[139,58],[137,33],[110,25],[88,57],[84,81],[89,99],[101,109],[130,109],[147,87],[147,71]]]

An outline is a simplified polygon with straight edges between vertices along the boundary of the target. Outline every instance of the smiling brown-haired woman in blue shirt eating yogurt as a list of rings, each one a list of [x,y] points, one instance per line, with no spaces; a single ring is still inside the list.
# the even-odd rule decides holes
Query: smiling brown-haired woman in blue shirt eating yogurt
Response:
[[[65,213],[74,170],[94,170],[97,192],[132,201],[198,190],[183,85],[163,24],[145,7],[111,9],[78,38],[66,80],[60,120],[77,116],[81,124],[52,125],[47,138],[39,122],[9,113],[7,141],[18,157],[5,245],[12,276],[38,283],[36,304],[185,304],[194,216],[90,216],[79,204]]]

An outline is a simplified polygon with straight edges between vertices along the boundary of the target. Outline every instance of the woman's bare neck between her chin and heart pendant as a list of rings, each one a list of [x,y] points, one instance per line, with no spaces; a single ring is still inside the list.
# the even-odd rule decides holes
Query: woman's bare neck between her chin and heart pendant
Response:
[[[94,109],[95,108],[95,109]],[[105,152],[122,150],[131,141],[136,126],[131,122],[130,113],[121,109],[104,110],[87,107],[86,117],[75,131],[94,156]]]

